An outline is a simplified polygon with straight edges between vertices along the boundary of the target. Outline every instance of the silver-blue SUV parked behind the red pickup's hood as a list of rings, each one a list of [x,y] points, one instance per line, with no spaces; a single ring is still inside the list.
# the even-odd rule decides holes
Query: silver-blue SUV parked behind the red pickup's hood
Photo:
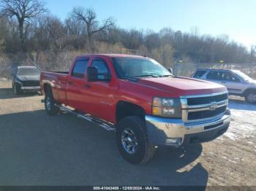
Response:
[[[242,96],[250,104],[256,103],[256,80],[241,71],[197,69],[192,77],[225,85],[230,95]]]

